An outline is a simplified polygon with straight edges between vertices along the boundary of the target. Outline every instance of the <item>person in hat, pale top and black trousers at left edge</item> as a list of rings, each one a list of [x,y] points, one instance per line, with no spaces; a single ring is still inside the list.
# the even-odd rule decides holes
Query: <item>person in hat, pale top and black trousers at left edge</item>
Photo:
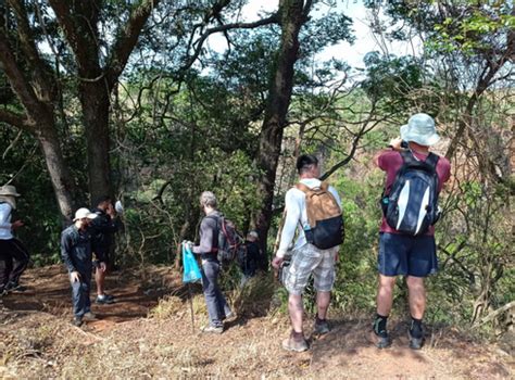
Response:
[[[27,268],[29,255],[13,231],[23,226],[22,220],[11,223],[12,212],[16,210],[16,188],[5,185],[0,188],[0,259],[4,262],[0,270],[0,294],[8,291],[23,291],[20,277]]]

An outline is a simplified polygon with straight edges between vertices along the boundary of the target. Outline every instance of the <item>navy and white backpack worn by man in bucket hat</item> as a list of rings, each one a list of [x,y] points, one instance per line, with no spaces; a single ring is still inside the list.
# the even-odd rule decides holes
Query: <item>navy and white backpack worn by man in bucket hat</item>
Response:
[[[391,228],[419,236],[440,217],[436,170],[440,157],[429,153],[426,161],[419,161],[411,151],[402,151],[401,156],[395,180],[381,198],[382,213]]]

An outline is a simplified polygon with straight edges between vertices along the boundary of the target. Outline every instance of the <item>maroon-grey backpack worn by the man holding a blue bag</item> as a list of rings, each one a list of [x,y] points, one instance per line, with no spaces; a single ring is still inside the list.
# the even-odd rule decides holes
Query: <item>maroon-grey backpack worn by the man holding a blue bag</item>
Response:
[[[217,239],[216,248],[213,249],[216,252],[216,258],[222,264],[229,264],[235,258],[240,258],[242,251],[244,250],[243,238],[236,230],[235,224],[226,219],[224,216],[210,216],[216,219]]]

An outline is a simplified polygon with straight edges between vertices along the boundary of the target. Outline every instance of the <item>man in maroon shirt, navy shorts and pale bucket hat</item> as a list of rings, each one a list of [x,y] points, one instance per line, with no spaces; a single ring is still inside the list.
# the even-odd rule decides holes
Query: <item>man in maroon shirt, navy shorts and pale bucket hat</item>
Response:
[[[432,182],[434,192],[431,194],[435,194],[434,199],[438,201],[438,193],[441,191],[442,185],[449,180],[451,165],[447,159],[429,152],[429,147],[440,140],[435,127],[435,121],[427,114],[415,114],[410,117],[406,125],[400,128],[400,138],[390,141],[391,150],[381,151],[374,159],[375,164],[386,172],[385,197],[381,202],[385,202],[385,198],[388,199],[388,202],[385,203],[392,202],[393,198],[389,198],[390,191],[393,192],[393,189],[400,182],[401,172],[405,170],[409,165],[407,162],[411,163],[410,165],[414,165],[413,167],[418,165],[429,168],[427,173],[431,175],[431,178],[435,178]],[[411,183],[411,191],[413,192],[415,191],[413,190],[415,188],[413,179]],[[410,187],[407,188],[410,189]],[[419,194],[416,193],[413,199],[423,198],[417,195]],[[409,197],[404,197],[404,199],[409,199]],[[400,198],[394,201],[400,202]],[[400,210],[400,204],[397,203],[398,211]],[[423,207],[428,210],[428,206],[425,204]],[[404,205],[404,207],[406,206]],[[387,206],[384,208],[384,213],[385,210],[388,210]],[[417,215],[426,214],[420,213]],[[420,225],[419,220],[420,216],[418,221],[415,218],[418,226]],[[424,278],[436,273],[438,269],[435,227],[430,225],[424,232],[420,231],[419,235],[417,232],[409,235],[399,231],[400,226],[401,224],[399,223],[394,226],[397,228],[394,228],[390,226],[385,216],[382,217],[379,230],[377,314],[374,320],[372,337],[379,349],[386,349],[391,344],[387,330],[387,318],[392,307],[397,276],[405,276],[411,312],[410,347],[419,350],[424,344],[422,327],[422,319],[426,307]]]

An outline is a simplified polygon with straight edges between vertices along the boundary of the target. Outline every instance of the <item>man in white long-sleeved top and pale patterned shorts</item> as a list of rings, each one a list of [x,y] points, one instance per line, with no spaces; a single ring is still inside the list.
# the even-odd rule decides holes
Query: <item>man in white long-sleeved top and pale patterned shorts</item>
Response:
[[[301,155],[297,160],[297,169],[300,183],[310,189],[319,188],[318,179],[321,172],[318,160],[314,155]],[[334,195],[340,206],[341,201],[337,191],[329,187],[328,191]],[[311,275],[314,277],[316,293],[317,315],[315,320],[315,332],[327,333],[329,327],[326,320],[329,307],[330,291],[335,282],[335,263],[338,255],[338,245],[328,250],[321,250],[309,243],[304,229],[310,228],[305,205],[305,193],[298,188],[292,188],[286,193],[286,220],[282,227],[279,249],[272,262],[275,268],[279,268],[287,251],[293,241],[299,226],[299,233],[294,242],[291,264],[285,268],[284,283],[289,293],[288,311],[291,320],[291,334],[282,342],[282,347],[288,351],[302,352],[309,349],[302,330],[303,303],[302,293]]]

